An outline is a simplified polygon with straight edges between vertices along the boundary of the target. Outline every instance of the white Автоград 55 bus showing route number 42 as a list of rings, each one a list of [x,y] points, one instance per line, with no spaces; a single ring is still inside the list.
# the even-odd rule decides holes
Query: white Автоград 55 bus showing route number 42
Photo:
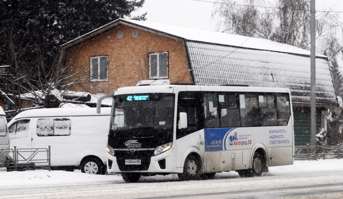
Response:
[[[181,180],[211,178],[222,171],[260,176],[269,166],[294,162],[287,88],[144,80],[105,97],[114,98],[107,171],[120,172],[127,182],[170,173]]]

